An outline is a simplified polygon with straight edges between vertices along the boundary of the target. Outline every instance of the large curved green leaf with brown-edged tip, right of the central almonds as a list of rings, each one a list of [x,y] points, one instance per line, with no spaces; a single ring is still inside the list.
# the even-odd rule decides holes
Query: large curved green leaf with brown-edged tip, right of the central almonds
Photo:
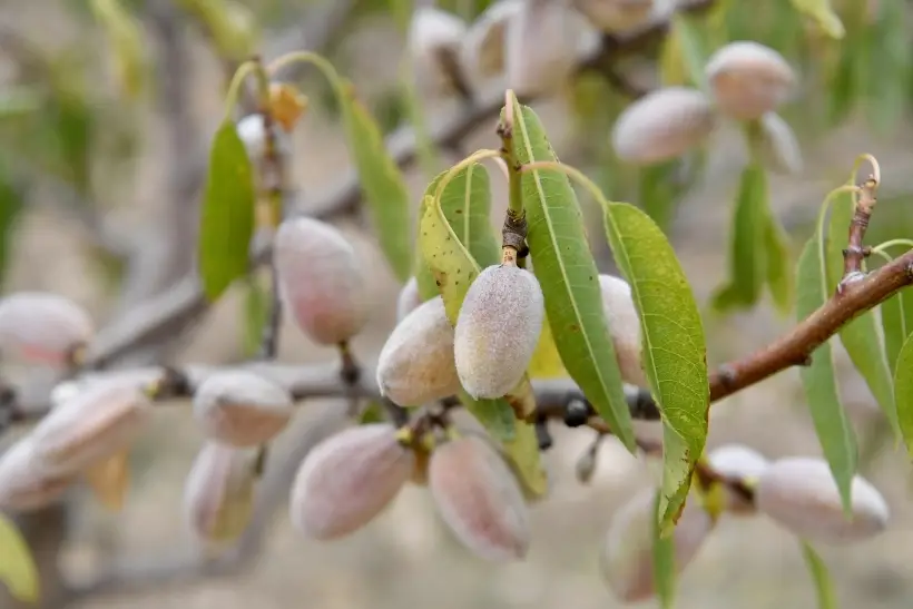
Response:
[[[631,286],[644,370],[662,413],[664,537],[678,520],[707,441],[710,385],[704,325],[681,265],[659,227],[632,205],[603,203],[606,234]]]

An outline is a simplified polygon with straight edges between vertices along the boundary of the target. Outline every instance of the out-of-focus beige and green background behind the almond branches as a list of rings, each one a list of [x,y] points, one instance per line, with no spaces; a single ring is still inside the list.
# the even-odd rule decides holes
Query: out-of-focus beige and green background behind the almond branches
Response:
[[[438,6],[468,21],[488,0]],[[395,134],[418,116],[402,78],[410,0],[32,0],[0,4],[0,285],[3,291],[50,289],[86,304],[98,320],[116,317],[160,294],[193,269],[199,188],[209,137],[223,116],[234,67],[251,53],[266,58],[306,46],[352,78],[384,131]],[[828,37],[808,17],[822,0],[717,0],[676,22],[612,73],[583,71],[533,107],[547,121],[562,160],[596,177],[607,195],[644,206],[673,236],[699,302],[726,274],[738,174],[746,151],[737,126],[721,125],[703,149],[647,168],[626,166],[610,147],[611,126],[630,100],[618,79],[640,88],[688,80],[689,58],[706,57],[732,40],[777,49],[799,75],[782,116],[801,143],[804,170],[770,177],[772,207],[793,254],[811,234],[824,195],[842,184],[853,159],[875,154],[882,197],[867,243],[909,237],[913,216],[910,153],[913,109],[913,7],[904,0],[834,0],[845,29]],[[119,8],[118,8],[119,7]],[[798,9],[805,9],[802,12]],[[811,8],[811,9],[809,9]],[[673,40],[670,42],[670,40]],[[620,75],[620,76],[619,76]],[[311,99],[294,135],[294,180],[300,208],[332,197],[345,176],[347,154],[336,108],[312,71],[294,75]],[[428,126],[459,100],[422,100]],[[436,150],[453,161],[492,146],[494,120],[481,121],[459,149]],[[415,200],[429,165],[409,173]],[[497,180],[493,180],[497,181]],[[498,190],[495,190],[498,193]],[[502,214],[501,190],[494,214]],[[592,209],[590,222],[598,225]],[[366,258],[377,257],[354,215],[343,228]],[[593,243],[611,269],[607,247]],[[365,360],[382,345],[394,320],[397,286],[379,265],[372,277],[376,318],[356,341]],[[137,355],[226,362],[243,357],[252,310],[243,294],[220,302],[177,343]],[[791,321],[770,306],[708,317],[710,360],[718,363],[767,342]],[[100,323],[100,322],[99,322]],[[236,330],[237,328],[237,330]],[[249,332],[247,333],[249,335]],[[282,355],[315,361],[327,353],[291,330]],[[248,341],[249,342],[249,341]],[[842,606],[907,607],[913,596],[907,505],[909,468],[900,452],[880,452],[884,434],[864,384],[845,358],[841,374],[847,407],[870,433],[864,473],[895,512],[891,532],[854,547],[825,549]],[[14,372],[14,371],[13,371]],[[853,382],[855,380],[855,383]],[[856,387],[856,389],[854,389]],[[745,441],[768,453],[817,454],[802,409],[797,379],[786,373],[715,407],[711,444]],[[315,404],[314,409],[318,409]],[[187,409],[163,409],[157,433],[137,456],[136,489],[124,513],[77,503],[65,570],[87,577],[125,557],[163,554],[185,546],[176,523],[180,485],[198,446]],[[307,418],[300,422],[302,426]],[[421,489],[411,489],[383,521],[333,547],[307,546],[287,532],[283,510],[255,568],[229,580],[199,578],[136,596],[84,599],[85,607],[295,606],[616,607],[596,569],[596,543],[612,509],[644,481],[642,464],[620,449],[605,450],[591,487],[573,480],[573,460],[589,438],[557,430],[549,453],[552,498],[537,507],[530,560],[492,569],[477,563],[442,532]],[[289,440],[289,444],[292,441]],[[168,450],[163,450],[167,446]],[[291,449],[289,449],[291,450]],[[811,607],[812,588],[794,541],[765,522],[727,522],[681,580],[683,608]]]

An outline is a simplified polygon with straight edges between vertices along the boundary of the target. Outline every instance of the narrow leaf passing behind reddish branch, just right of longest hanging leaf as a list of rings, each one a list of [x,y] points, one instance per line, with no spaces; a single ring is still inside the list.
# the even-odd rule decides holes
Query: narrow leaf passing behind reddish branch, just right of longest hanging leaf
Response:
[[[831,222],[826,238],[827,289],[833,294],[843,276],[843,248],[847,245],[847,232],[853,219],[854,203],[850,195],[842,195],[831,204]],[[840,331],[841,343],[853,365],[868,385],[891,428],[900,435],[894,406],[891,367],[881,341],[881,327],[874,311],[867,311],[844,325]]]

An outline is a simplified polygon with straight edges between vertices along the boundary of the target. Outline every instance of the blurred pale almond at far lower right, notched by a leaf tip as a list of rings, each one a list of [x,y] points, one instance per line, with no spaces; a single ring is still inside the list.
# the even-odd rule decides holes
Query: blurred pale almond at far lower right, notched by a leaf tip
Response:
[[[851,493],[853,518],[847,520],[827,462],[793,456],[775,461],[760,474],[755,504],[759,512],[808,541],[847,543],[882,532],[890,510],[877,489],[856,475]]]

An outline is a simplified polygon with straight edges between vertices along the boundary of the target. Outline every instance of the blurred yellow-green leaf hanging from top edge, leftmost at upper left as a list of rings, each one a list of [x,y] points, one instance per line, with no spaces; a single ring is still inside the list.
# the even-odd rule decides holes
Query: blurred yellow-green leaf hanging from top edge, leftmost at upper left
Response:
[[[118,0],[91,0],[92,12],[114,47],[112,57],[124,92],[137,97],[146,78],[143,35],[136,20]]]

